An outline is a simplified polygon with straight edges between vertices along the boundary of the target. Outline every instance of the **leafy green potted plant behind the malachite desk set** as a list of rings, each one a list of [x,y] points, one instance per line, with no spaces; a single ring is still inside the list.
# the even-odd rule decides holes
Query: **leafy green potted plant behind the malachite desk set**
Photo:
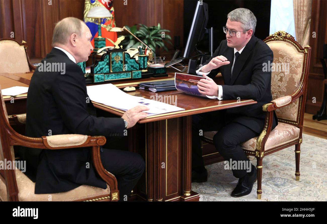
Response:
[[[140,27],[137,29],[136,24],[132,27],[125,26],[132,34],[137,38],[142,40],[146,45],[148,45],[152,50],[155,51],[156,47],[163,48],[165,51],[168,51],[168,48],[165,46],[165,42],[171,43],[171,37],[166,34],[170,32],[166,29],[161,29],[160,24],[157,26],[146,26],[144,24],[139,24]],[[164,42],[165,41],[165,42]],[[128,34],[125,36],[125,40],[121,42],[124,49],[137,48],[138,45],[143,45],[140,41],[135,39],[132,35]]]

